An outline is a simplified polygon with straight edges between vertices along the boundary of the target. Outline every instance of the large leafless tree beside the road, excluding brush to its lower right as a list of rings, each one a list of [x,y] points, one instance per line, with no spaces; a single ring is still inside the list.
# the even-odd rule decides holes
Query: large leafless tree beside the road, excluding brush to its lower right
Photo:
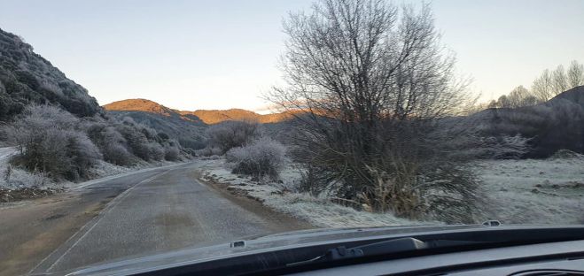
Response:
[[[436,119],[469,102],[429,6],[416,11],[382,0],[323,0],[310,14],[291,14],[284,32],[287,87],[269,98],[305,111],[292,112],[300,122],[297,157],[323,181],[340,183],[339,196],[374,198],[373,209],[385,211],[380,201],[393,198],[378,193],[380,181],[399,181],[410,188],[409,199],[416,197],[417,177],[440,166],[422,164],[424,155],[437,152],[425,135]],[[390,209],[413,216],[423,204]]]

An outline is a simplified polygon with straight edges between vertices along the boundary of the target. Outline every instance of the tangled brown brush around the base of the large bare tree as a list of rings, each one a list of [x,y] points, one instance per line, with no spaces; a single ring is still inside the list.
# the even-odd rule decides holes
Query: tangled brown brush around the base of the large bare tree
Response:
[[[301,133],[302,129],[295,133],[300,137],[294,139],[298,146],[292,157],[308,166],[300,189],[326,192],[362,203],[369,211],[410,219],[471,222],[479,211],[478,180],[465,164],[476,157],[515,152],[523,149],[524,142],[518,137],[518,149],[513,150],[508,150],[510,142],[495,141],[487,147],[469,122],[455,119],[381,122],[378,134],[355,144],[338,131],[338,121],[330,124],[323,126],[327,135],[315,137]],[[362,127],[357,122],[347,131],[362,131]],[[354,133],[361,138],[368,134]],[[330,148],[322,148],[325,139]]]

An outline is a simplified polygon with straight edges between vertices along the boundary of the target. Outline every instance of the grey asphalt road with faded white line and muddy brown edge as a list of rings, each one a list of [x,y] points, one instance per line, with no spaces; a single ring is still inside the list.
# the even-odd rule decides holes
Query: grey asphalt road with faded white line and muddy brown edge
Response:
[[[197,173],[196,163],[160,168],[0,208],[0,274],[61,272],[310,227],[207,187]]]

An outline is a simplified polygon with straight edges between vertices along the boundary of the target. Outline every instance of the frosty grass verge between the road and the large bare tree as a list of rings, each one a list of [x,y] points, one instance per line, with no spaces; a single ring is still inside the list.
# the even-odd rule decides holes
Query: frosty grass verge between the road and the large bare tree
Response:
[[[306,220],[314,226],[358,227],[431,224],[431,222],[396,218],[390,213],[356,211],[353,208],[332,203],[327,198],[295,193],[289,188],[297,186],[300,171],[294,169],[292,165],[287,165],[284,172],[280,173],[281,180],[279,182],[255,182],[250,177],[230,173],[230,167],[224,164],[224,159],[203,162],[204,180],[227,183],[230,188],[244,190],[248,196],[257,198],[269,208],[284,212],[297,219]]]

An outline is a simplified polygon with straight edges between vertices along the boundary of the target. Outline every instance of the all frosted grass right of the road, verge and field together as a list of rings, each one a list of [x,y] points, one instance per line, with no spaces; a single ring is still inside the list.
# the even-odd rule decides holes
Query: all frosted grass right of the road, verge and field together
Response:
[[[266,206],[304,219],[314,226],[404,226],[436,224],[432,221],[400,219],[391,213],[371,213],[293,191],[300,171],[286,165],[280,180],[252,181],[230,173],[224,159],[201,160],[203,180],[229,185]],[[584,157],[545,160],[489,160],[475,165],[486,196],[485,219],[506,224],[584,223]],[[478,221],[479,222],[479,221]]]

